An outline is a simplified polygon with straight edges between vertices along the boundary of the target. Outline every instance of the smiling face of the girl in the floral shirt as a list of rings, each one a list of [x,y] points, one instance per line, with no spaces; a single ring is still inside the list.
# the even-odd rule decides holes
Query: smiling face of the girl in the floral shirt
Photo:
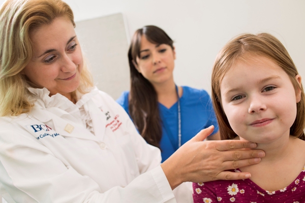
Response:
[[[301,77],[295,78],[300,84]],[[270,143],[289,137],[300,91],[296,94],[278,64],[261,56],[238,61],[224,76],[220,89],[224,112],[241,139]]]

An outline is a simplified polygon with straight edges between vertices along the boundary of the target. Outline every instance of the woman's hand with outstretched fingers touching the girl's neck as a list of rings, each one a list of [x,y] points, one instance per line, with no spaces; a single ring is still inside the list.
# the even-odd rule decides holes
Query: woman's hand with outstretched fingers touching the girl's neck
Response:
[[[208,182],[250,178],[250,173],[226,170],[260,162],[264,151],[256,143],[239,140],[203,141],[214,126],[201,130],[161,164],[172,189],[182,182]]]

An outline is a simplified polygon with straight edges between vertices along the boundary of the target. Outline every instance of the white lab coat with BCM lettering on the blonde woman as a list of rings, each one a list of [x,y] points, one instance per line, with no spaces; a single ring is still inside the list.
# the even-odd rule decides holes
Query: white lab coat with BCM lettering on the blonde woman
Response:
[[[46,88],[29,90],[31,112],[0,117],[0,195],[7,202],[176,202],[160,150],[109,95],[95,88],[74,105]],[[177,192],[177,202],[191,202],[190,191]]]

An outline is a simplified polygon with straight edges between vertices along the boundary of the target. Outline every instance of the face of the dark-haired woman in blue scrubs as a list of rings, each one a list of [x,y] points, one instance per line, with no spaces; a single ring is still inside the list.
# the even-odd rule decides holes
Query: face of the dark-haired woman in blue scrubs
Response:
[[[151,84],[160,84],[173,80],[175,51],[166,44],[152,44],[142,36],[140,57],[137,57],[136,69]]]

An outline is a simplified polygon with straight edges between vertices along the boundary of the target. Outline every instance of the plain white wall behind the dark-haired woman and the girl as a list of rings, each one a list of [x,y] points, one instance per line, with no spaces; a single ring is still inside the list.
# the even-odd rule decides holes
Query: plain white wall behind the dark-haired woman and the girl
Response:
[[[163,28],[175,41],[175,81],[210,92],[218,51],[242,32],[269,32],[280,39],[305,80],[303,0],[66,0],[75,20],[123,13],[129,35],[144,25]],[[127,86],[126,89],[129,89]]]

